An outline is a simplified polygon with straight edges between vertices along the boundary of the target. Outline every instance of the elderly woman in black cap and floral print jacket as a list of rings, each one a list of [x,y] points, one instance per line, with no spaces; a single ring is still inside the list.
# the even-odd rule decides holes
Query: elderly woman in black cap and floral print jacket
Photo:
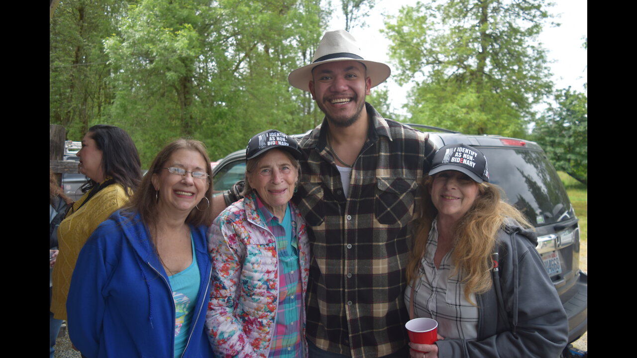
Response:
[[[213,262],[206,328],[220,357],[306,357],[306,224],[290,202],[299,179],[296,141],[257,134],[246,150],[244,199],[208,232]]]

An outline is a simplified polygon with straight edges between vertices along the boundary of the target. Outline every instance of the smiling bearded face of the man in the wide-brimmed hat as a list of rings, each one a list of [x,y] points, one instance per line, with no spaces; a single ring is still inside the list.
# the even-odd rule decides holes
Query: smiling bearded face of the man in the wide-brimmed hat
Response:
[[[310,92],[331,124],[348,127],[365,109],[371,79],[358,61],[327,62],[312,70]]]

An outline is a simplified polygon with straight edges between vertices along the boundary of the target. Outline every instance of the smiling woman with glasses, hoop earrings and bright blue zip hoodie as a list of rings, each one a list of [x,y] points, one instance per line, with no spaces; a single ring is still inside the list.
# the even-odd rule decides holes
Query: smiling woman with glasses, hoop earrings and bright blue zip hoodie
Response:
[[[203,143],[177,140],[78,257],[69,336],[86,357],[213,357],[204,331],[212,185]]]

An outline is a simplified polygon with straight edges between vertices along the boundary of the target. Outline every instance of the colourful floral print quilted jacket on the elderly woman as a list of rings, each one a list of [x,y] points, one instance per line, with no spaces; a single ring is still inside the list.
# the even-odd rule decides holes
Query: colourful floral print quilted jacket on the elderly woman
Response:
[[[279,296],[276,238],[255,208],[254,194],[247,196],[222,211],[208,230],[213,287],[206,331],[217,357],[266,358],[275,333]],[[305,220],[294,204],[290,208],[299,242],[304,301],[310,247]],[[304,338],[305,311],[302,334]],[[304,347],[307,350],[305,343]]]

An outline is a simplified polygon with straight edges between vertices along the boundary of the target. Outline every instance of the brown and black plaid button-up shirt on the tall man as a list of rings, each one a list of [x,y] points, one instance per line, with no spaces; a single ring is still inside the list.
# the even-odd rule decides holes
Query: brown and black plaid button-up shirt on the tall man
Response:
[[[318,348],[382,357],[408,343],[403,301],[419,182],[435,149],[426,134],[386,120],[366,104],[368,139],[345,197],[327,149],[327,122],[299,145],[301,180],[292,199],[310,232],[306,336]]]

